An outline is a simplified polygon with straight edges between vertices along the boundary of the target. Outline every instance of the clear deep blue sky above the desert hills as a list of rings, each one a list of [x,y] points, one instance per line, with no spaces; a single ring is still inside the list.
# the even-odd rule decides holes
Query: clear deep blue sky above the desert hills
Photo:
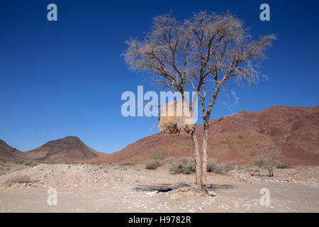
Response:
[[[55,3],[58,21],[47,21]],[[271,21],[259,20],[268,3]],[[230,10],[252,35],[276,33],[262,72],[268,82],[238,88],[230,111],[217,105],[213,118],[272,105],[319,104],[319,1],[1,1],[0,138],[19,150],[76,135],[111,153],[158,133],[157,118],[124,118],[121,94],[138,85],[121,54],[124,40],[142,38],[153,16],[186,18],[199,10]]]

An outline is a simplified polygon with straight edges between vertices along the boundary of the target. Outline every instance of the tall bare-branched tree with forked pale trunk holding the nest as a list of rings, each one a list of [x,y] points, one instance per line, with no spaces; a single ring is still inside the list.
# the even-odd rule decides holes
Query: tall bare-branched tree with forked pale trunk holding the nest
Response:
[[[184,94],[198,92],[203,117],[201,148],[196,130],[191,131],[196,164],[196,185],[208,193],[206,182],[208,128],[218,94],[231,81],[253,84],[264,74],[258,71],[264,50],[275,35],[252,40],[243,21],[230,13],[218,15],[200,11],[177,21],[172,13],[156,16],[144,40],[130,39],[124,53],[131,70],[150,74],[152,82],[162,89]],[[227,85],[227,86],[226,86]],[[184,97],[183,97],[184,98]],[[192,104],[194,111],[194,102]]]

